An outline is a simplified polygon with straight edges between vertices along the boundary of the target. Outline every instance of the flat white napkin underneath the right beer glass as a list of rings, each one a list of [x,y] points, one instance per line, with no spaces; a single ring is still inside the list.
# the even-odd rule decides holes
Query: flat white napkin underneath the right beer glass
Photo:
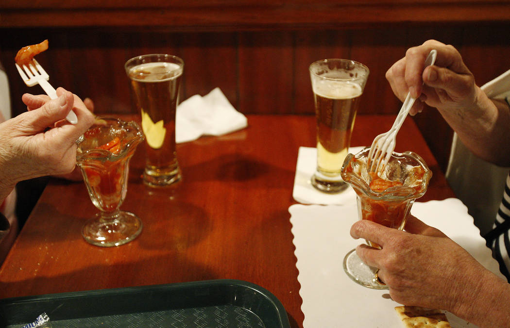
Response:
[[[355,154],[364,147],[350,147],[349,153]],[[317,166],[317,149],[299,147],[296,163],[296,175],[292,197],[301,204],[343,205],[351,204],[356,199],[354,190],[346,188],[338,194],[326,194],[317,190],[311,182]]]

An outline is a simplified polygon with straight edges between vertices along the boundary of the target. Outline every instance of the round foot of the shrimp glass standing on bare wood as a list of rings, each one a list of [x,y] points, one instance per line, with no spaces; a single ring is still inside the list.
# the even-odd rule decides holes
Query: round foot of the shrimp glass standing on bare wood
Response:
[[[112,220],[101,213],[85,223],[82,236],[93,245],[113,247],[135,239],[142,232],[142,221],[131,212],[120,211]]]

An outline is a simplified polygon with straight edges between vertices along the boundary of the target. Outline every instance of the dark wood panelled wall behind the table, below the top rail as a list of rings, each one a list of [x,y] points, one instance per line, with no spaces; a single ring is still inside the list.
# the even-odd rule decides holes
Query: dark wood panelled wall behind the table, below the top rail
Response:
[[[0,61],[10,78],[15,114],[25,111],[23,93],[42,90],[23,84],[13,65],[14,56],[22,46],[46,38],[49,49],[38,60],[48,71],[50,83],[82,98],[92,98],[96,112],[101,114],[134,112],[123,65],[127,59],[145,53],[171,53],[184,59],[181,99],[205,95],[219,87],[245,114],[313,114],[308,67],[325,58],[349,58],[369,67],[360,114],[397,113],[401,103],[393,95],[385,73],[407,48],[432,38],[453,44],[461,51],[478,85],[510,69],[510,39],[505,37],[510,31],[510,19],[351,28],[341,24],[338,28],[316,25],[311,29],[292,25],[273,29],[261,24],[259,30],[225,28],[210,32],[200,28],[183,32],[161,26],[2,28],[1,22],[0,19]],[[431,108],[414,120],[445,170],[451,129]]]

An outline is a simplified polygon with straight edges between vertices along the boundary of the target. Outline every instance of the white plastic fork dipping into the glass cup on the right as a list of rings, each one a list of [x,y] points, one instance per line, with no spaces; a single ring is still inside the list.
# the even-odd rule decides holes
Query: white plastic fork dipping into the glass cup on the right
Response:
[[[437,50],[431,50],[425,60],[423,69],[427,66],[434,65],[437,55]],[[405,97],[402,108],[400,108],[400,112],[398,113],[391,129],[388,132],[381,133],[374,138],[372,146],[370,146],[370,151],[368,152],[367,166],[370,166],[369,172],[382,172],[390,161],[391,154],[395,150],[398,130],[400,130],[400,127],[407,117],[407,114],[409,114],[411,107],[413,107],[415,100],[415,98],[411,97],[410,93],[407,93],[407,97]]]

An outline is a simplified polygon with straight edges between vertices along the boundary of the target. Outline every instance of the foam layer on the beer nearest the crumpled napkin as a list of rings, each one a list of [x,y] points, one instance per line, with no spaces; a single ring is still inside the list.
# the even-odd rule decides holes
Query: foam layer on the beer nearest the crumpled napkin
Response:
[[[166,62],[143,63],[130,69],[130,77],[140,82],[167,81],[182,73],[180,65]]]

